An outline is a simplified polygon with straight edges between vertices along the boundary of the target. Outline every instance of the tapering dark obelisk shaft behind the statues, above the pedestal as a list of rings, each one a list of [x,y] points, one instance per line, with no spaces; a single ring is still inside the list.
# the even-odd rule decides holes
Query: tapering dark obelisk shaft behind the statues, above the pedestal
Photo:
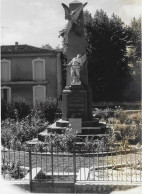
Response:
[[[74,1],[69,4],[69,8],[71,11],[80,7],[82,3],[79,1]],[[69,34],[68,34],[68,43],[67,43],[67,63],[69,63],[72,58],[76,57],[77,54],[85,54],[86,53],[86,40],[84,33],[84,18],[83,11],[81,11],[79,15],[79,25],[73,24]],[[80,80],[83,86],[88,86],[88,70],[87,70],[87,62],[83,65],[83,69],[81,70]],[[70,67],[67,69],[67,86],[71,85],[71,76],[70,76]]]

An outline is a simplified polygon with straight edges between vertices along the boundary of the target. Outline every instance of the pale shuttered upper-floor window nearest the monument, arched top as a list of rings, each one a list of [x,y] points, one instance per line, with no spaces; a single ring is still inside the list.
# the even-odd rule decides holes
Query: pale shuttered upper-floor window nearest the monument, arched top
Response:
[[[33,68],[33,80],[43,81],[45,80],[45,60],[35,59],[32,61]]]

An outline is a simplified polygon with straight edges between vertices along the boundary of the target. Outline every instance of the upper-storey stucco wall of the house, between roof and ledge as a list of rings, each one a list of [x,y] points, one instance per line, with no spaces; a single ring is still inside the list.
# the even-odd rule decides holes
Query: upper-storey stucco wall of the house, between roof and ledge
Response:
[[[46,79],[52,80],[52,76],[56,76],[56,55],[49,56],[15,56],[3,57],[2,59],[11,61],[11,80],[12,81],[31,81],[32,60],[41,58],[45,60]]]

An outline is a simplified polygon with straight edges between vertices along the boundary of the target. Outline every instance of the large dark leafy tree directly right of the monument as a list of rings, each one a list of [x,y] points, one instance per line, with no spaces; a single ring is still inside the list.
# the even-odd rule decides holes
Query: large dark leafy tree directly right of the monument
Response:
[[[85,16],[88,73],[93,100],[121,100],[130,80],[126,47],[130,29],[121,19],[103,11]]]

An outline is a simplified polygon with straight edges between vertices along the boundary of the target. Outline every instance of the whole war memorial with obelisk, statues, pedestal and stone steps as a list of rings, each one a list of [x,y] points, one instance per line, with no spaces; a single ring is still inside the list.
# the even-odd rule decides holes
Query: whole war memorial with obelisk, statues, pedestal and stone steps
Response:
[[[62,119],[40,133],[39,140],[43,141],[49,133],[62,133],[69,124],[79,136],[99,136],[106,132],[106,125],[93,119],[92,113],[83,18],[83,8],[86,5],[87,3],[74,1],[68,7],[62,3],[67,20],[66,28],[61,33],[63,52],[67,59],[66,87],[62,92]]]

